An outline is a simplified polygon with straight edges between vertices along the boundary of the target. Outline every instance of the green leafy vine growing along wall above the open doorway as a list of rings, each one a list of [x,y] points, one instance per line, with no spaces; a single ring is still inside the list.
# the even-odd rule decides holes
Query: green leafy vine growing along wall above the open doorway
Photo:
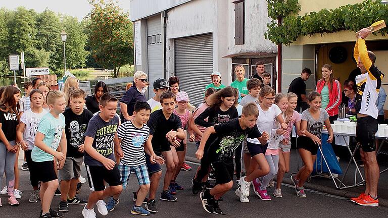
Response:
[[[341,30],[358,31],[372,23],[388,18],[388,5],[380,0],[366,0],[355,5],[341,6],[336,9],[322,9],[319,12],[297,15],[300,11],[298,0],[267,0],[268,16],[276,20],[282,18],[282,24],[276,21],[267,24],[265,38],[276,44],[289,45],[299,36],[315,33],[333,33]],[[385,36],[388,28],[381,29]]]

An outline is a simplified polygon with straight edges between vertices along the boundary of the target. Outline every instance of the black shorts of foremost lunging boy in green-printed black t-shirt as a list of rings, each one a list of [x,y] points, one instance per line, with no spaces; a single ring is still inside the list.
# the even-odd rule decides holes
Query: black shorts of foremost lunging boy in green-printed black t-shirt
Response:
[[[212,168],[216,176],[216,184],[225,184],[233,181],[234,165],[232,158],[212,162]]]

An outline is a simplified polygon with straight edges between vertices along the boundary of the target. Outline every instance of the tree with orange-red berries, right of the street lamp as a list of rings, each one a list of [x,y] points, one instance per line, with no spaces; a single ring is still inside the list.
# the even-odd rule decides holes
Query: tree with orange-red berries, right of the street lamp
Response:
[[[117,78],[121,66],[133,63],[132,23],[112,1],[90,0],[90,4],[87,30],[92,57],[104,68],[113,68]]]

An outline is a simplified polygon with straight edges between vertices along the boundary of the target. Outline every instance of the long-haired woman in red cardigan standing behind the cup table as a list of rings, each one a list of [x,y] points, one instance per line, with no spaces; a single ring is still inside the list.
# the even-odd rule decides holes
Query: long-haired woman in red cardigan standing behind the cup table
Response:
[[[322,66],[322,79],[317,82],[317,92],[322,96],[321,108],[329,114],[330,123],[338,118],[338,107],[342,102],[341,83],[333,78],[333,68],[329,64]]]

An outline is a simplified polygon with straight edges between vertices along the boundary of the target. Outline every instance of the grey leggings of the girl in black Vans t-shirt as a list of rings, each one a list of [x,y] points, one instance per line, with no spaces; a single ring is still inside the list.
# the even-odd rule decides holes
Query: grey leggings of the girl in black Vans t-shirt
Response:
[[[15,141],[10,141],[11,145],[15,145]],[[15,165],[16,153],[7,151],[4,143],[0,142],[0,185],[3,182],[3,175],[6,173],[8,196],[14,195],[15,189]]]

